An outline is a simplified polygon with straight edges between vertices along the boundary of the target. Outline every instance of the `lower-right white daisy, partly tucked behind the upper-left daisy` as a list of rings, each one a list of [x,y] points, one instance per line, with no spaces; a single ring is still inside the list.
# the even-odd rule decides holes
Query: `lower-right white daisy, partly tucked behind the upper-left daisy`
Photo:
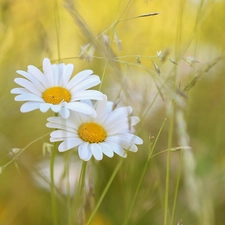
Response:
[[[50,134],[50,141],[62,141],[59,151],[78,147],[78,154],[84,161],[90,160],[92,155],[96,160],[101,160],[103,154],[111,158],[116,153],[125,158],[126,150],[136,152],[136,145],[143,141],[132,134],[133,126],[140,121],[139,117],[130,116],[132,108],[128,106],[113,110],[113,103],[107,102],[106,95],[102,101],[96,102],[94,108],[96,118],[73,112],[67,120],[48,118],[46,126],[58,129]]]

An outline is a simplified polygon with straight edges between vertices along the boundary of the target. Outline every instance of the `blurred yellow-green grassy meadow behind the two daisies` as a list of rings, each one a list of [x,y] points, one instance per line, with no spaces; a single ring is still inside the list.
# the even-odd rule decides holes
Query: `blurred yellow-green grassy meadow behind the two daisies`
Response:
[[[41,69],[48,57],[73,63],[74,74],[92,69],[109,100],[131,105],[141,118],[137,132],[144,144],[124,160],[92,225],[124,223],[141,175],[127,224],[224,225],[224,11],[224,0],[1,0],[0,224],[52,224],[49,191],[36,179],[50,157],[43,144],[52,114],[22,114],[10,94],[16,70]],[[15,157],[13,148],[38,138]],[[183,145],[191,149],[148,158],[152,146],[154,155]],[[89,163],[87,217],[119,160]],[[79,159],[75,163],[74,177]],[[63,190],[59,218],[67,224]]]

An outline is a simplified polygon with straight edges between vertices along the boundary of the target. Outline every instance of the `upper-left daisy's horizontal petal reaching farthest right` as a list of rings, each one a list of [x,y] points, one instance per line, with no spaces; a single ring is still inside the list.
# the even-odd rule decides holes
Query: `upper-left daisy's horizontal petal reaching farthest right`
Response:
[[[72,93],[74,97],[71,101],[83,100],[83,99],[92,99],[92,100],[102,100],[103,94],[100,91],[96,90],[87,90],[87,91],[80,91],[77,93]]]

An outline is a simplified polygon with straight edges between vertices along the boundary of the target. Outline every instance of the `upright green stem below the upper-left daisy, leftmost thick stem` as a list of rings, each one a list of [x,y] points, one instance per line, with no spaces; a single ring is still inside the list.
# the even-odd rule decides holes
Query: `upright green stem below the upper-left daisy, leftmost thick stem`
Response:
[[[58,224],[56,195],[55,195],[55,181],[54,181],[54,163],[55,163],[56,151],[57,151],[57,143],[55,142],[54,147],[52,149],[51,161],[50,161],[50,179],[51,179],[51,199],[52,199],[53,225]]]

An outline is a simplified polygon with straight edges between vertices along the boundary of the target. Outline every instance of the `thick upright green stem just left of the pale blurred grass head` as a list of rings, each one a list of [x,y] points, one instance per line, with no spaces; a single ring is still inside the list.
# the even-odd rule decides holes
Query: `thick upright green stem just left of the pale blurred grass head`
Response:
[[[165,205],[164,205],[164,225],[167,225],[168,221],[168,200],[169,200],[169,183],[170,183],[170,158],[171,158],[171,146],[173,139],[173,125],[174,125],[174,113],[173,103],[171,103],[171,116],[169,125],[169,137],[168,137],[168,152],[167,152],[167,168],[166,168],[166,190],[165,190]]]

